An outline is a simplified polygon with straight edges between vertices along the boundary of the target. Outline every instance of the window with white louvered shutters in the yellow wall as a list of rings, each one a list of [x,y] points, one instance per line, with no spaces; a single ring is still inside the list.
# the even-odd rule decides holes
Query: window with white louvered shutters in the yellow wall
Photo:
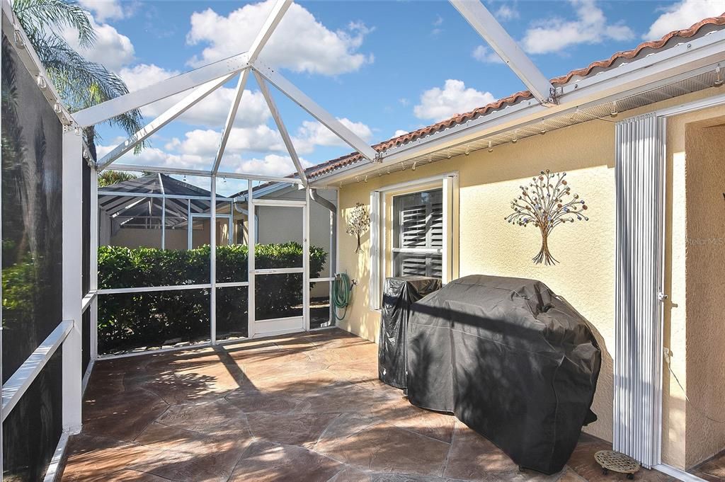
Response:
[[[393,198],[393,275],[443,278],[443,190]]]

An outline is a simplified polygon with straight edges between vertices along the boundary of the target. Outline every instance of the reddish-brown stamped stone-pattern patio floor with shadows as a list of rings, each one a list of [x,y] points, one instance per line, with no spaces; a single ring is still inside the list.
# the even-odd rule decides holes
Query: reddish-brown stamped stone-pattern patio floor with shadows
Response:
[[[555,475],[521,472],[451,415],[377,377],[340,330],[96,364],[63,481],[615,481],[582,436]],[[640,471],[642,481],[674,481]]]

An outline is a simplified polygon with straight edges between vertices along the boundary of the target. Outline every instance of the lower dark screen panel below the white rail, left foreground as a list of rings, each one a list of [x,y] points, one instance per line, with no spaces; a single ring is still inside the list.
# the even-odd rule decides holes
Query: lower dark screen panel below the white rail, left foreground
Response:
[[[62,432],[62,346],[2,424],[3,480],[42,481]]]

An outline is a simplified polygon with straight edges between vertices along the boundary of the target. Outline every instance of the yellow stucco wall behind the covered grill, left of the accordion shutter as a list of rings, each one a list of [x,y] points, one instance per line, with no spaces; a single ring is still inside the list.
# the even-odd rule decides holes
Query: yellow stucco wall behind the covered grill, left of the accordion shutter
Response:
[[[564,296],[595,326],[602,347],[602,373],[594,411],[599,420],[589,431],[611,439],[612,357],[614,334],[614,125],[597,121],[555,130],[544,136],[476,151],[418,167],[415,177],[457,171],[460,183],[460,275],[492,274],[534,278]],[[566,171],[573,191],[589,205],[589,222],[561,225],[549,239],[559,265],[534,265],[541,237],[534,228],[505,222],[518,186],[540,170]],[[368,204],[370,190],[413,179],[408,170],[344,186],[342,215],[355,202]],[[379,315],[367,309],[369,235],[355,255],[354,240],[341,234],[341,267],[358,281],[349,315],[340,323],[353,333],[376,340]]]

